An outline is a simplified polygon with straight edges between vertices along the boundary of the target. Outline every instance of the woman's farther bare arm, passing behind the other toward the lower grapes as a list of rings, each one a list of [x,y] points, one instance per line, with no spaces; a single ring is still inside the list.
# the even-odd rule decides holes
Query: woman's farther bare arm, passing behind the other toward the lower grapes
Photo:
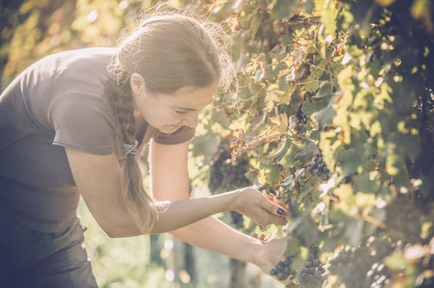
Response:
[[[187,153],[189,143],[162,145],[151,141],[152,191],[157,199],[189,199]],[[170,179],[170,181],[167,181]],[[266,215],[267,216],[267,215]],[[284,224],[282,221],[280,224]],[[204,218],[171,234],[199,248],[258,264],[260,240],[247,236],[214,217]],[[276,261],[277,262],[277,261]]]

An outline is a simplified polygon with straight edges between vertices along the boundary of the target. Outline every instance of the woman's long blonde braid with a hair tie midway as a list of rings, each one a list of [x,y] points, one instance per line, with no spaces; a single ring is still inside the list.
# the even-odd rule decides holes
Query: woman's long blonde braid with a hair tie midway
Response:
[[[109,80],[106,85],[106,95],[117,116],[122,133],[123,143],[133,144],[135,142],[135,120],[132,105],[132,92],[129,81],[118,85],[115,81]],[[121,143],[121,146],[122,144]],[[134,218],[142,233],[149,233],[157,218],[157,210],[152,205],[152,199],[144,190],[142,173],[134,155],[127,155],[123,165],[124,189],[122,198],[127,210]]]

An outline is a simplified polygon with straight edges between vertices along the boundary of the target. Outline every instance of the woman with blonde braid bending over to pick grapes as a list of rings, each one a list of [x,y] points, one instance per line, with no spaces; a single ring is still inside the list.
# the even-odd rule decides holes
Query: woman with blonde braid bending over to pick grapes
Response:
[[[79,193],[110,237],[171,231],[269,271],[286,239],[260,243],[211,215],[283,225],[282,203],[253,188],[189,199],[189,142],[230,64],[212,28],[158,14],[117,48],[60,52],[18,75],[0,96],[0,286],[97,287]],[[156,201],[136,159],[148,142]]]

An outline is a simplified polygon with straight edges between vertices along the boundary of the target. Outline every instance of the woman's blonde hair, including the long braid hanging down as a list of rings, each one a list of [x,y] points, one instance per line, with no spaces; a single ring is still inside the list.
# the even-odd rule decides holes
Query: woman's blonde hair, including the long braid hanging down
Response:
[[[144,18],[120,43],[109,65],[112,79],[105,85],[123,142],[135,141],[129,84],[134,72],[142,75],[150,94],[171,94],[182,87],[208,87],[217,80],[219,97],[230,99],[238,82],[226,40],[226,33],[218,24],[199,21],[185,13],[157,12]],[[149,233],[158,211],[144,190],[139,165],[132,155],[125,160],[124,188],[129,213],[142,233]]]

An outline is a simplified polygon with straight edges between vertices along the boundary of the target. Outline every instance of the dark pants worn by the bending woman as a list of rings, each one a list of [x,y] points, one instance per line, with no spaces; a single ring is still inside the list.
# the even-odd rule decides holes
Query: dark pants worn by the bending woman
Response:
[[[0,221],[0,287],[97,287],[83,245],[84,231],[78,218],[59,233]]]

